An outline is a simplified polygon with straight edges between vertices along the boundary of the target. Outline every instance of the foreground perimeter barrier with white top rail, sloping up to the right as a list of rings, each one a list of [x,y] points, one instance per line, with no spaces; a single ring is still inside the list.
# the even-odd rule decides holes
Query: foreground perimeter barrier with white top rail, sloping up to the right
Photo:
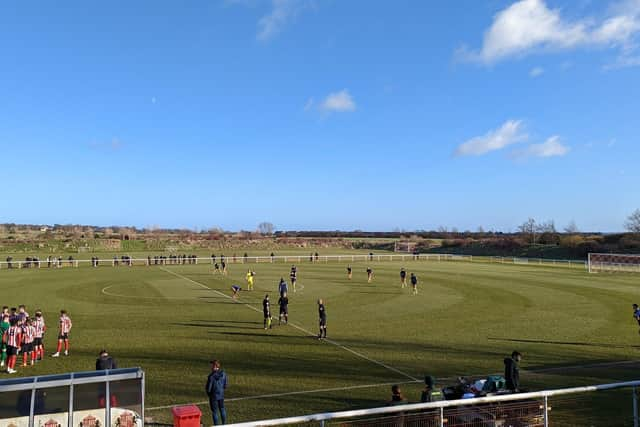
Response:
[[[529,393],[505,394],[463,400],[445,400],[386,406],[374,409],[329,412],[230,424],[231,427],[262,426],[370,426],[370,427],[548,427],[633,426],[638,427],[640,381],[564,388]],[[604,391],[627,390],[608,396]],[[631,391],[631,396],[628,392]],[[587,394],[591,396],[587,397]],[[576,399],[576,396],[580,398]],[[600,398],[600,405],[597,404]],[[552,406],[552,401],[553,405]],[[620,408],[612,408],[618,405]],[[553,409],[553,411],[552,411]]]

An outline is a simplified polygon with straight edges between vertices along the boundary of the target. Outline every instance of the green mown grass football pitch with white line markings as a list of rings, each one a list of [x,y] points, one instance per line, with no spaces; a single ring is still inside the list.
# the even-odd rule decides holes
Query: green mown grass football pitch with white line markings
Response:
[[[29,311],[41,308],[50,328],[60,308],[74,322],[70,357],[49,358],[19,369],[18,375],[91,370],[97,352],[106,347],[121,367],[145,369],[146,404],[154,408],[205,400],[208,361],[215,357],[230,378],[227,406],[233,422],[380,406],[390,386],[346,388],[404,383],[425,374],[453,378],[501,372],[503,357],[514,349],[525,355],[522,381],[529,389],[638,377],[635,365],[548,370],[637,359],[640,337],[631,303],[640,300],[638,276],[406,261],[370,263],[375,280],[369,284],[367,265],[354,263],[354,278],[348,281],[346,263],[298,264],[303,288],[291,293],[290,320],[299,328],[262,328],[262,298],[269,292],[277,313],[278,279],[287,278],[290,267],[284,263],[251,264],[256,290],[243,292],[238,302],[227,296],[232,283],[244,286],[247,266],[242,264],[231,264],[227,277],[202,264],[3,269],[1,302],[24,303]],[[403,265],[420,278],[417,296],[400,289]],[[359,355],[304,332],[316,332],[319,297],[326,301],[329,337]],[[45,339],[49,353],[54,335],[50,329]],[[345,389],[250,398],[338,388]],[[419,399],[419,383],[403,388],[411,401]],[[597,413],[575,415],[575,403],[559,402],[554,416],[567,417],[562,425],[571,425],[570,419],[575,425],[623,425],[610,417],[628,419],[630,401],[630,392],[603,393],[589,399]],[[208,408],[201,408],[208,422]],[[169,409],[148,409],[147,415],[160,421],[171,417]]]

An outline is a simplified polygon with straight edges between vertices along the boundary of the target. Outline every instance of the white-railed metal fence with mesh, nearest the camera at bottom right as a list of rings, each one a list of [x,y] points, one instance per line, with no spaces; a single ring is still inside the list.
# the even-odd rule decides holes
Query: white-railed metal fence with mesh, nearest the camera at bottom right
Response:
[[[230,424],[232,427],[320,425],[339,422],[342,426],[541,426],[551,422],[550,399],[567,395],[580,395],[615,389],[631,389],[628,412],[620,419],[609,419],[607,426],[633,425],[638,427],[638,396],[636,388],[640,381],[573,387],[530,393],[479,397],[463,400],[445,400],[431,403],[416,403],[385,406],[373,409],[329,412],[297,417],[278,418]],[[501,418],[501,419],[499,419]],[[625,422],[622,423],[621,420]],[[564,425],[555,423],[555,425]]]

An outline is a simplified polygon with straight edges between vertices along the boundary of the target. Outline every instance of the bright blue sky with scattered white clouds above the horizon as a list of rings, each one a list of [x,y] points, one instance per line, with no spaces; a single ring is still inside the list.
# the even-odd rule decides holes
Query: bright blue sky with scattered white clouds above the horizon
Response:
[[[0,222],[618,231],[640,0],[12,2]]]

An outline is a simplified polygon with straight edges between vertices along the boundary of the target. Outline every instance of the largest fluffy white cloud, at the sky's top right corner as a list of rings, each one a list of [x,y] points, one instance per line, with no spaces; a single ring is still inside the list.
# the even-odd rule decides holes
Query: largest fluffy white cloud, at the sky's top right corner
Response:
[[[606,19],[568,20],[544,0],[520,0],[498,12],[479,51],[462,50],[468,60],[492,64],[532,52],[577,47],[619,47],[628,54],[640,33],[640,0],[612,8]]]

